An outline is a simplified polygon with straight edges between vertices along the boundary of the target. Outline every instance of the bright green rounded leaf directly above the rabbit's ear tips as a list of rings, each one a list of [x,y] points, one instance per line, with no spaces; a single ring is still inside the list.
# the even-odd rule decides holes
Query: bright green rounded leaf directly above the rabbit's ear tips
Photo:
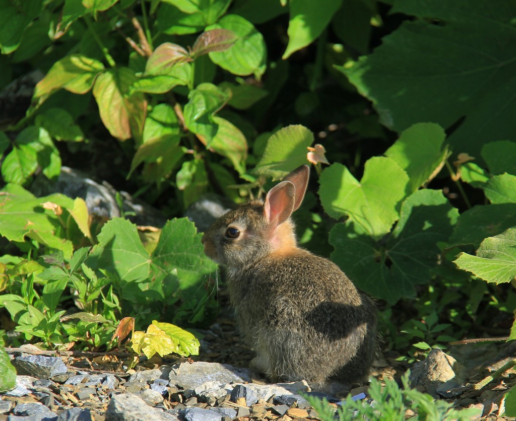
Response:
[[[302,125],[291,125],[279,129],[269,137],[260,162],[253,172],[281,179],[303,164],[308,164],[308,147],[314,141],[314,134]]]

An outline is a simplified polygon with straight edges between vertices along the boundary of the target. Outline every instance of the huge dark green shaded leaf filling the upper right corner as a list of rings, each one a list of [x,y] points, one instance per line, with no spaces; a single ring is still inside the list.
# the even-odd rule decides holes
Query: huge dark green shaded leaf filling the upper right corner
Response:
[[[397,0],[391,12],[418,19],[339,69],[396,132],[421,121],[449,128],[465,116],[447,141],[454,153],[478,159],[484,143],[514,138],[516,98],[507,96],[516,89],[512,7],[510,0]]]

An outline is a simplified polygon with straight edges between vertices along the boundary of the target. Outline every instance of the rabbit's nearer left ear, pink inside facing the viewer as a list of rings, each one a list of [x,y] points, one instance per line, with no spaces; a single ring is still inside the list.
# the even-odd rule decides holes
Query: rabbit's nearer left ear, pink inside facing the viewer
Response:
[[[267,193],[263,213],[267,223],[276,226],[285,222],[294,212],[296,187],[290,181],[282,181]]]

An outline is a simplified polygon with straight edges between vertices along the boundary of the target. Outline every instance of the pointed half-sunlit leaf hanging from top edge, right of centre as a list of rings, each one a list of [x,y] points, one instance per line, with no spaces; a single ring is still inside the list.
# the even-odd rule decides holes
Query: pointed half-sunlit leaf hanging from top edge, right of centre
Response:
[[[342,0],[290,0],[288,45],[283,59],[311,44],[328,26],[341,4]]]

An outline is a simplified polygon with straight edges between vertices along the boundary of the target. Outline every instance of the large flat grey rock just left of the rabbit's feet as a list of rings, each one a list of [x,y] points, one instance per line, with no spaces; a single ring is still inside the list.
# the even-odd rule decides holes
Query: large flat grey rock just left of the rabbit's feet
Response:
[[[170,371],[170,384],[176,384],[183,389],[195,389],[208,381],[218,382],[220,385],[244,383],[251,381],[251,377],[248,369],[219,363],[181,363],[174,365]]]

